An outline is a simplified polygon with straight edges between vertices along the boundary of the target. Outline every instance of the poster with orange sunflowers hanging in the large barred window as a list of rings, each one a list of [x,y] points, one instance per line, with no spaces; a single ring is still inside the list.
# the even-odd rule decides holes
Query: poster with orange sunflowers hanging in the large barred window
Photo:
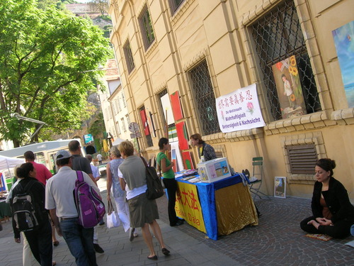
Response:
[[[295,55],[272,66],[282,118],[307,113]]]

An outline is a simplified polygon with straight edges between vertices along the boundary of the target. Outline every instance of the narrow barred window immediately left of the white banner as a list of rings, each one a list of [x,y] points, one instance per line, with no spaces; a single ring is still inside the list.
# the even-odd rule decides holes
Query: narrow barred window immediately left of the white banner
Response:
[[[190,84],[195,99],[197,117],[200,119],[202,135],[210,135],[220,132],[217,121],[217,109],[215,95],[212,89],[207,61],[203,60],[189,72]]]

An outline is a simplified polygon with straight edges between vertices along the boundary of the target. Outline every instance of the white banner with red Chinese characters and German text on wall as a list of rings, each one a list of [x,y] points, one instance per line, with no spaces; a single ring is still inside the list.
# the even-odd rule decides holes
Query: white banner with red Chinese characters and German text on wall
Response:
[[[219,96],[216,102],[217,119],[223,133],[265,126],[256,84]]]

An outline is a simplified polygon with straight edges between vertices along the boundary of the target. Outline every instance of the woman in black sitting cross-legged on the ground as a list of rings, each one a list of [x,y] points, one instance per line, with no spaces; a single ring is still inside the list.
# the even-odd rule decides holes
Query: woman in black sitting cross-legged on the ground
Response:
[[[354,206],[350,204],[343,184],[332,177],[336,162],[320,159],[316,162],[312,214],[300,226],[307,233],[323,233],[333,238],[344,238],[354,224]]]

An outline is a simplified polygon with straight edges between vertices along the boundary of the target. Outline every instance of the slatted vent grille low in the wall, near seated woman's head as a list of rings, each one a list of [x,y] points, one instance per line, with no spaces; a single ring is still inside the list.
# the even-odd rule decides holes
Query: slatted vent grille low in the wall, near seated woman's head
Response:
[[[313,174],[314,166],[318,160],[316,147],[309,145],[286,146],[289,159],[290,171],[292,174]]]

